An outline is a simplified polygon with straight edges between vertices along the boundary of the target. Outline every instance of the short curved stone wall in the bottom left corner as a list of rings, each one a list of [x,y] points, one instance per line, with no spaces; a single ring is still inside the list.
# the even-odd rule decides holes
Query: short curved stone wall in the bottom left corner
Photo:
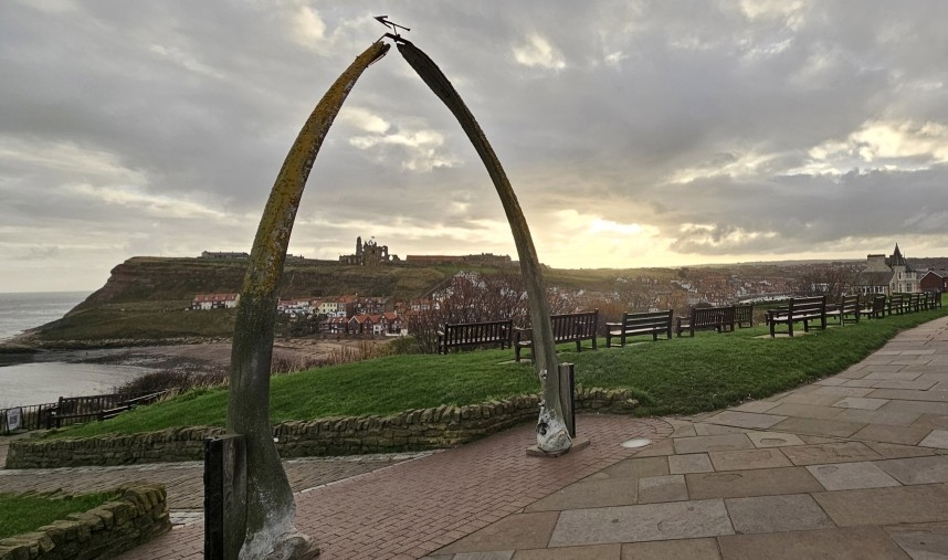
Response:
[[[0,540],[0,560],[112,558],[171,530],[165,487],[136,483],[83,514]]]

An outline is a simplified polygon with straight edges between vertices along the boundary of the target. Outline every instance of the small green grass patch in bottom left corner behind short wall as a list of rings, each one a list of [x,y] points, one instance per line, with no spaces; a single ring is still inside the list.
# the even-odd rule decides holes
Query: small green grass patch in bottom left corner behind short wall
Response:
[[[0,539],[32,532],[70,514],[88,511],[118,497],[117,492],[49,496],[0,494]]]

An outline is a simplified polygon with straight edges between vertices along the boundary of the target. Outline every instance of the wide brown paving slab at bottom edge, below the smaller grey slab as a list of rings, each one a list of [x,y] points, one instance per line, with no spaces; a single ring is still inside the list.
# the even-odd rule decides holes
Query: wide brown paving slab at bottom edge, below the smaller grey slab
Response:
[[[727,560],[908,560],[878,527],[735,535],[718,538]]]

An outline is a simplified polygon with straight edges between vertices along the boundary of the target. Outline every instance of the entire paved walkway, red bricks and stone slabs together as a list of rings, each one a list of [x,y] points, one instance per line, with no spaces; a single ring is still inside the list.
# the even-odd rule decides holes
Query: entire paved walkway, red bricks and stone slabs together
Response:
[[[301,492],[298,528],[327,559],[948,558],[948,318],[762,401],[577,424],[557,459],[525,425]],[[202,531],[123,558],[201,558]]]

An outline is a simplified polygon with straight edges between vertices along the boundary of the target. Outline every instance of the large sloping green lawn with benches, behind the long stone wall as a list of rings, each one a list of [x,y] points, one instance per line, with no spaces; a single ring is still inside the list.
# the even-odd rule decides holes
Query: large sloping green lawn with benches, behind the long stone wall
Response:
[[[576,363],[586,387],[629,389],[640,415],[693,414],[773,393],[832,376],[861,361],[898,331],[948,314],[928,310],[845,327],[771,339],[765,327],[735,332],[699,332],[694,338],[638,337],[624,348],[576,352],[561,347],[560,360]],[[631,340],[635,340],[634,338]],[[286,420],[391,414],[440,404],[474,404],[538,392],[527,361],[513,350],[450,356],[393,356],[273,378],[271,419]],[[171,426],[223,425],[227,391],[198,390],[143,406],[105,422],[55,431],[50,437],[138,433]]]

